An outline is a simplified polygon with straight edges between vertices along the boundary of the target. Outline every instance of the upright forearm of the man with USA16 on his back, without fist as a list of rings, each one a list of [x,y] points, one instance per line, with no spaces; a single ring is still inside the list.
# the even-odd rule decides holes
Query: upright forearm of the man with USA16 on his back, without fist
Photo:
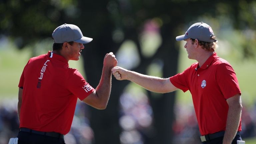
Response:
[[[101,80],[96,88],[96,93],[102,104],[102,109],[105,109],[111,92],[111,68],[103,67]]]

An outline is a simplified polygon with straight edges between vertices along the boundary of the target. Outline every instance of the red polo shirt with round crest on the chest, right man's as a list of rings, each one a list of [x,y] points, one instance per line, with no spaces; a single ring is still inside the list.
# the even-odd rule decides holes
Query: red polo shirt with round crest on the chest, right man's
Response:
[[[236,74],[216,52],[198,67],[198,63],[194,63],[170,77],[170,81],[184,92],[191,92],[201,135],[224,131],[228,113],[226,99],[241,95]],[[238,131],[241,131],[241,119]]]

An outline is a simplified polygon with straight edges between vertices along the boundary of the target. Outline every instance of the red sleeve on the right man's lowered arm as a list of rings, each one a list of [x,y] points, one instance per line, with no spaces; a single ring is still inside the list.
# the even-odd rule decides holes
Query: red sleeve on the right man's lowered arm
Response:
[[[216,72],[216,80],[225,99],[236,94],[241,95],[236,73],[230,64],[219,64]]]

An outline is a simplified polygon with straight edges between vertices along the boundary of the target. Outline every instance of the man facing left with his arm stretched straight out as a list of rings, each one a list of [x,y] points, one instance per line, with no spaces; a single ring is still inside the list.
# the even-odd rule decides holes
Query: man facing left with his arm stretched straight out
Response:
[[[233,68],[215,52],[217,40],[212,28],[203,22],[195,23],[176,40],[185,40],[188,58],[198,61],[182,73],[163,79],[114,67],[112,74],[118,80],[130,80],[153,92],[189,90],[201,141],[204,144],[236,144],[237,140],[242,140],[239,133],[241,91]]]

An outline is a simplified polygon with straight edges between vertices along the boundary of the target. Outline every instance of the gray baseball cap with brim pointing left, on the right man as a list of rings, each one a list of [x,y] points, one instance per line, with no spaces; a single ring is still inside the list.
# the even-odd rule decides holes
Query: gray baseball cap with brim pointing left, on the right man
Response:
[[[216,39],[211,39],[211,36],[214,35],[212,28],[203,22],[192,24],[186,33],[181,36],[177,36],[177,41],[182,41],[188,38],[198,39],[204,42],[217,42]]]

